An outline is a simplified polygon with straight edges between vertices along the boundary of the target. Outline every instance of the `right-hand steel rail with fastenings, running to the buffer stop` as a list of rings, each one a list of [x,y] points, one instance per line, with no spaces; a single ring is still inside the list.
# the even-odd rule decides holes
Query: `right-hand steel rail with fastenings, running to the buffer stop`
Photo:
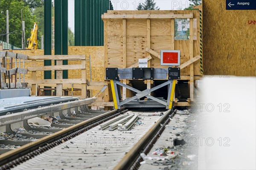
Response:
[[[153,146],[159,137],[159,132],[163,131],[164,126],[163,123],[169,122],[169,118],[173,117],[177,112],[175,109],[172,114],[172,109],[169,109],[166,114],[164,114],[149,130],[143,135],[143,137],[135,144],[135,146],[126,153],[125,157],[122,158],[121,161],[113,168],[114,170],[124,170],[124,169],[137,169],[138,163],[141,161],[140,153],[142,153],[145,149],[148,150],[149,146]],[[153,144],[152,144],[153,142]]]

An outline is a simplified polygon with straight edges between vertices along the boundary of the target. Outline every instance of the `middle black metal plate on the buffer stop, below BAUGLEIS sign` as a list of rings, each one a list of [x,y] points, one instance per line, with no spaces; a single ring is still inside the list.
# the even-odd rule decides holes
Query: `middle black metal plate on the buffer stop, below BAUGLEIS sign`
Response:
[[[154,68],[132,68],[132,79],[153,80]]]

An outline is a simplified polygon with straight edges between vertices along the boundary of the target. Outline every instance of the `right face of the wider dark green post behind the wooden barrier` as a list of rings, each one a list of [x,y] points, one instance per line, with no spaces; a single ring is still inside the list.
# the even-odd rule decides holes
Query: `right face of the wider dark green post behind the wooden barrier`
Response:
[[[68,0],[62,0],[62,55],[68,55]],[[63,60],[63,65],[68,61]],[[63,70],[63,78],[68,78],[68,70]]]

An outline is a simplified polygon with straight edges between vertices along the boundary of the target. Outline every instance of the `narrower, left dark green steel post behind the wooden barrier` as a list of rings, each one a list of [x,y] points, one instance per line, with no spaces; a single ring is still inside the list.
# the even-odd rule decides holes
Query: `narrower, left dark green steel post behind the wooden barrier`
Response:
[[[44,0],[44,55],[52,55],[52,0]],[[51,60],[44,60],[44,66],[51,65]],[[52,71],[44,71],[44,79],[52,79]]]

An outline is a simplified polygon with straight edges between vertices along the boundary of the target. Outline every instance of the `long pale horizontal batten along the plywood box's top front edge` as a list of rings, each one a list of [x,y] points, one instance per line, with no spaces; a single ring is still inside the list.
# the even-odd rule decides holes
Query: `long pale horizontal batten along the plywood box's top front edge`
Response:
[[[193,18],[193,14],[104,14],[102,19]]]

